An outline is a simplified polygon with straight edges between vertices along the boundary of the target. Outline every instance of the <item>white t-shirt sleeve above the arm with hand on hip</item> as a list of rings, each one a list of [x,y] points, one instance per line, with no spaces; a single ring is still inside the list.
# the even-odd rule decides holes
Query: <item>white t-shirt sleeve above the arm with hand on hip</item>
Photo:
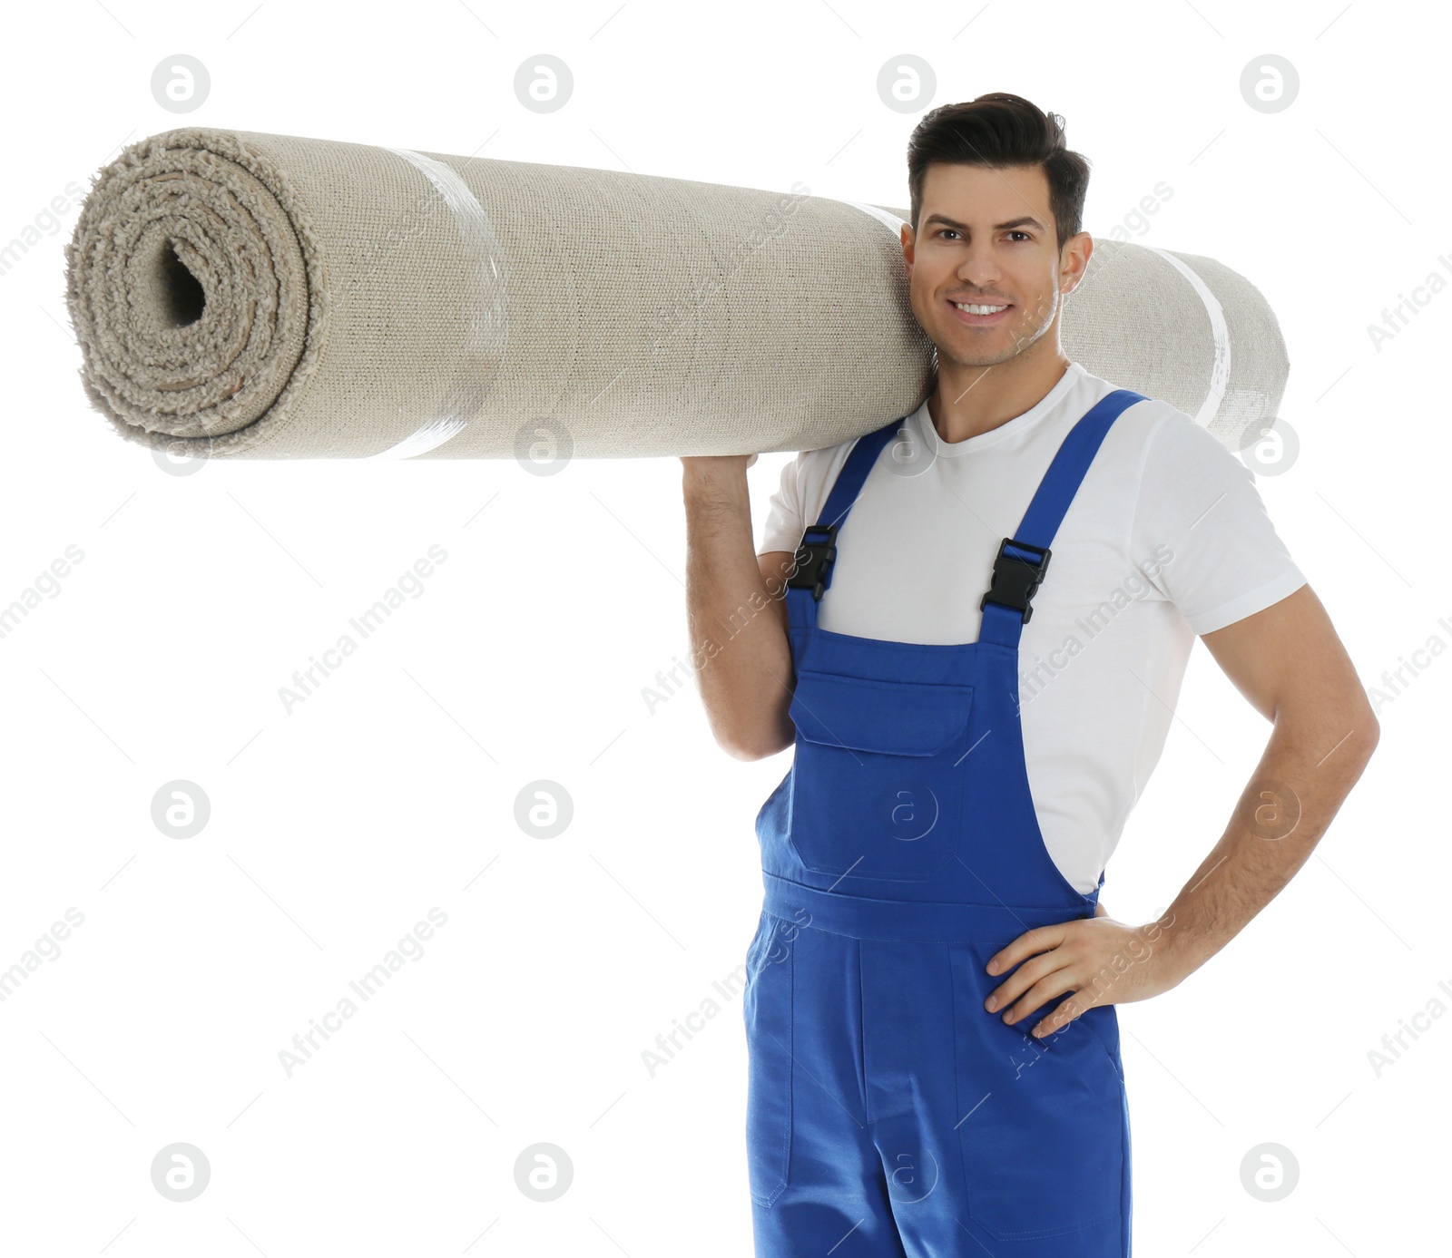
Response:
[[[1255,615],[1305,585],[1256,490],[1255,473],[1180,411],[1156,427],[1131,537],[1146,575],[1196,636]]]

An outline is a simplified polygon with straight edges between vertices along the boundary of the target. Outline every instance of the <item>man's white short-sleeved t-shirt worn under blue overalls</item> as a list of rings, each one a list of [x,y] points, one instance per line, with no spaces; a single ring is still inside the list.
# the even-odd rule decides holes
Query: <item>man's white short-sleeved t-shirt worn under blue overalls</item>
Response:
[[[1115,387],[1070,363],[1029,411],[955,443],[938,437],[923,402],[878,454],[838,534],[817,624],[977,641],[999,543],[1069,429]],[[759,553],[797,548],[851,444],[804,450],[783,467]],[[1250,469],[1157,399],[1111,425],[1051,550],[1019,638],[1024,752],[1048,852],[1088,894],[1159,762],[1195,636],[1279,602],[1305,577]]]

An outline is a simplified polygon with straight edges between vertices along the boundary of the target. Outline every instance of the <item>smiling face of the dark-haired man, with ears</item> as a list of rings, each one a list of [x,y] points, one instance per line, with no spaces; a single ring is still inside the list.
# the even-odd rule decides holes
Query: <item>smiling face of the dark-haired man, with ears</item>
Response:
[[[918,231],[905,225],[902,242],[912,312],[939,363],[964,367],[1006,363],[1048,332],[1093,248],[1080,232],[1060,252],[1043,167],[955,163],[928,167]],[[955,302],[1006,309],[973,315]]]

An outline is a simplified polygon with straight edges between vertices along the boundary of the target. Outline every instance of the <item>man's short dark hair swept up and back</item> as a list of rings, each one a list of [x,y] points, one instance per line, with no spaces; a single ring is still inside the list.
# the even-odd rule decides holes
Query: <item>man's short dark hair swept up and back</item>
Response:
[[[1048,178],[1059,248],[1082,231],[1089,160],[1064,145],[1064,119],[1011,91],[929,109],[908,139],[912,229],[922,213],[922,184],[935,161],[961,165],[1040,165]]]

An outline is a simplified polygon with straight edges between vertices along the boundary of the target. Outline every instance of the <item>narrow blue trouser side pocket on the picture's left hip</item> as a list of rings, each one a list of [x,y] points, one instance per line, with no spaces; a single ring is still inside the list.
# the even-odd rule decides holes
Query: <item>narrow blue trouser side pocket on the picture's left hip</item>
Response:
[[[771,1206],[791,1158],[791,956],[762,913],[746,952],[746,1165],[751,1199]]]

